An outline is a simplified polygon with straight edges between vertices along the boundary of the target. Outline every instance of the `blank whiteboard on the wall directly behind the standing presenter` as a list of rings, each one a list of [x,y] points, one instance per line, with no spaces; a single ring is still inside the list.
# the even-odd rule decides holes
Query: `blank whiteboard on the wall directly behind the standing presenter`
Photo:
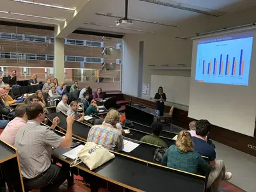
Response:
[[[163,86],[166,101],[189,105],[190,77],[152,75],[150,97],[155,97],[159,86]]]

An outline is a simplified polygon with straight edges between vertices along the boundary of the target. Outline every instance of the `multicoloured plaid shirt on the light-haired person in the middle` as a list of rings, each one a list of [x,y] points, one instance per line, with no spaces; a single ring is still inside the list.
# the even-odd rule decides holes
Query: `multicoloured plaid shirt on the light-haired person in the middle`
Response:
[[[108,150],[120,151],[124,148],[122,132],[106,123],[94,125],[89,131],[87,141],[102,145]]]

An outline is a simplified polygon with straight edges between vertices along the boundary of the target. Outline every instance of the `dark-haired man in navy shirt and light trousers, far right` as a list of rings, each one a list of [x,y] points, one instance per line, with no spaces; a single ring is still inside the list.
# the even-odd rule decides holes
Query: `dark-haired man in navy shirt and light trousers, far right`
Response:
[[[210,173],[207,181],[207,188],[211,186],[211,191],[220,191],[220,181],[229,180],[232,173],[226,172],[223,160],[216,160],[216,152],[212,145],[207,143],[207,134],[211,129],[211,124],[207,120],[196,122],[196,135],[193,137],[195,151],[201,156],[209,158],[209,164],[214,168]]]

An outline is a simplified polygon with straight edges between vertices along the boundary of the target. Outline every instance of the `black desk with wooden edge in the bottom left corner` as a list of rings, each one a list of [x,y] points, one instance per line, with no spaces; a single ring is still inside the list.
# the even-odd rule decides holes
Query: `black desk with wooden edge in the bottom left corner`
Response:
[[[17,149],[0,140],[0,168],[10,192],[24,191]]]

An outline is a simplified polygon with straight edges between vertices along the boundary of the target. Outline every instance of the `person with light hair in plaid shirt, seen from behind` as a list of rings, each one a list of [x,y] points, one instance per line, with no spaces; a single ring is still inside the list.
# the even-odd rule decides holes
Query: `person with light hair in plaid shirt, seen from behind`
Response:
[[[116,129],[119,118],[118,111],[111,109],[102,125],[94,125],[90,129],[87,141],[102,145],[108,150],[122,150],[124,148],[122,132]]]

